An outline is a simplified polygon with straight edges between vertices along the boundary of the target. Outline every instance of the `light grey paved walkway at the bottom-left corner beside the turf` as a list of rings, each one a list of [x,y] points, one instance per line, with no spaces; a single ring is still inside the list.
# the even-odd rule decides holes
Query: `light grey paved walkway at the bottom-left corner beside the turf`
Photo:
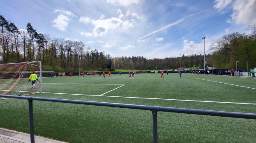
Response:
[[[0,128],[0,143],[30,143],[30,135]],[[52,140],[45,137],[35,136],[35,143],[67,143],[58,140]]]

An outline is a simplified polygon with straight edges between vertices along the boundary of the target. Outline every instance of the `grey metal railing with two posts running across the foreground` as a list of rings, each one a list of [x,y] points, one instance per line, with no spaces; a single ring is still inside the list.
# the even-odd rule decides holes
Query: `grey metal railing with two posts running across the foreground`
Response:
[[[33,100],[61,102],[61,103],[70,103],[70,104],[85,104],[85,105],[105,106],[105,107],[118,107],[118,108],[128,108],[128,109],[150,110],[150,111],[152,111],[152,121],[153,121],[153,143],[157,143],[157,112],[175,112],[175,113],[196,114],[196,115],[210,115],[210,116],[231,117],[231,118],[256,119],[256,114],[253,114],[253,113],[225,112],[225,111],[185,109],[185,108],[159,107],[159,106],[145,106],[145,105],[134,105],[134,104],[116,104],[116,103],[106,103],[106,102],[80,101],[80,100],[68,100],[68,99],[58,99],[58,98],[41,98],[41,97],[31,97],[31,96],[0,95],[0,97],[26,99],[29,101],[29,123],[30,123],[30,141],[31,141],[31,143],[35,143]]]

